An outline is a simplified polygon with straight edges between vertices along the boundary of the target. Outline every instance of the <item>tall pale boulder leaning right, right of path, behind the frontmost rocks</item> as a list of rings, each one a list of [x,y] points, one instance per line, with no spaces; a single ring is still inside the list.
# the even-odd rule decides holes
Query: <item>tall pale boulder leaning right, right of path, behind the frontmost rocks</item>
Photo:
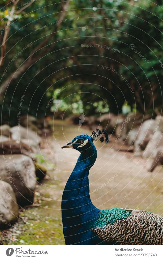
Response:
[[[138,131],[137,138],[134,142],[135,152],[140,155],[141,149],[145,149],[147,143],[150,141],[152,134],[157,131],[154,119],[144,121]]]

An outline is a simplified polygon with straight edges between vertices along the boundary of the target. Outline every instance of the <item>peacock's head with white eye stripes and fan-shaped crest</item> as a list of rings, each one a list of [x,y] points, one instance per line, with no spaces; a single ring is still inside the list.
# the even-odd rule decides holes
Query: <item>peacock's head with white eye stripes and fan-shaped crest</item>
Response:
[[[95,140],[100,140],[102,143],[104,141],[106,144],[109,142],[109,136],[106,130],[99,130],[98,128],[96,131],[92,132],[92,135],[87,135],[87,134],[80,134],[76,136],[74,139],[72,139],[71,142],[63,145],[61,148],[72,148],[76,149],[80,153],[86,152],[90,147],[94,146],[93,141]]]

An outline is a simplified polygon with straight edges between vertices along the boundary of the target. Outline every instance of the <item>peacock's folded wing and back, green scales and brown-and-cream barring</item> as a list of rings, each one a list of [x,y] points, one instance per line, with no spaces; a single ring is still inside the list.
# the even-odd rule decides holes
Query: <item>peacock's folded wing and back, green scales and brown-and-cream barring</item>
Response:
[[[163,217],[144,210],[102,210],[91,230],[106,244],[163,245]]]

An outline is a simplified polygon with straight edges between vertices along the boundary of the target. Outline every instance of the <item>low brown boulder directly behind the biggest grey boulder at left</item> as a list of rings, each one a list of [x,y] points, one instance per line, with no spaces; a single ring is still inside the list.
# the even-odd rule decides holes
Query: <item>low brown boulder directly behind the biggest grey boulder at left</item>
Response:
[[[0,142],[0,154],[19,154],[19,153],[25,154],[33,158],[32,147],[29,147],[29,145],[24,144],[21,141],[18,140],[14,141],[10,139],[8,141]]]

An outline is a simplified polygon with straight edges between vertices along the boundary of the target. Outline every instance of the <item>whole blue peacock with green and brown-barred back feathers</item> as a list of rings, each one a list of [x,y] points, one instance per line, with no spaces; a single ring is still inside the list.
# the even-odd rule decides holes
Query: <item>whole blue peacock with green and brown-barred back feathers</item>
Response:
[[[76,136],[62,148],[80,152],[62,195],[66,245],[163,245],[163,217],[139,209],[100,210],[91,202],[88,174],[97,158],[93,141],[109,142],[106,130]]]

